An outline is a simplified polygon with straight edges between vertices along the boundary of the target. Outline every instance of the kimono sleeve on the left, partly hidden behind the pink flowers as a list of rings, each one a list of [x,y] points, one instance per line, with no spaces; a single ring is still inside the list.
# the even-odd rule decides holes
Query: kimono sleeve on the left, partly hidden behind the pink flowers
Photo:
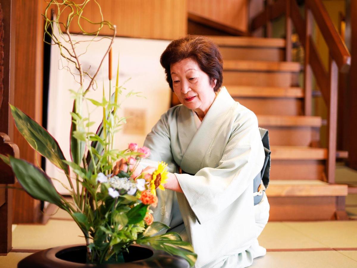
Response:
[[[150,160],[164,161],[170,172],[175,172],[176,165],[171,153],[170,130],[168,126],[168,113],[161,115],[160,120],[147,134],[144,146],[150,149]]]

